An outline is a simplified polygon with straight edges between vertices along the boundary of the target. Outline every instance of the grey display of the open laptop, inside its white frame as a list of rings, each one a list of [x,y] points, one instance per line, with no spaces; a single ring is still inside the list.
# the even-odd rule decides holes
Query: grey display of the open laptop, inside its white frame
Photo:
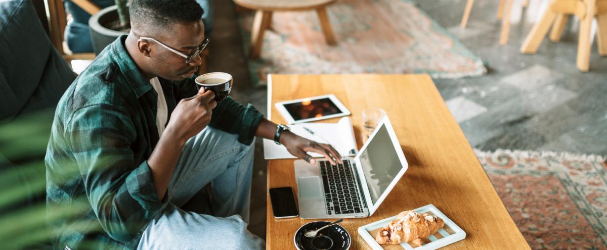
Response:
[[[385,123],[381,124],[375,137],[368,143],[367,148],[359,153],[359,159],[371,201],[375,204],[401,171],[402,164]]]

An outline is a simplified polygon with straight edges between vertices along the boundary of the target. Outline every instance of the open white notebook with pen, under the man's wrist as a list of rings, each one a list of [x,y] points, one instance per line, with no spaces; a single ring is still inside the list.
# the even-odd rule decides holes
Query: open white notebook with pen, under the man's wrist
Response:
[[[354,156],[358,153],[354,128],[349,117],[341,118],[337,123],[299,123],[290,125],[290,127],[291,132],[301,137],[331,144],[342,156]],[[314,135],[306,129],[311,130]],[[313,152],[310,152],[310,155],[315,158],[324,157]],[[278,145],[273,140],[263,139],[263,158],[271,160],[297,157],[291,155],[285,146]]]

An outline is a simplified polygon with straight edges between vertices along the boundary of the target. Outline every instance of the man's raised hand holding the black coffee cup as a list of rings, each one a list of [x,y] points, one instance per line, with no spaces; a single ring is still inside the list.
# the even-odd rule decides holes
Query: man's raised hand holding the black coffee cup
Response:
[[[215,93],[200,88],[198,94],[182,99],[171,114],[166,126],[182,143],[205,129],[211,121],[212,110],[217,106]]]

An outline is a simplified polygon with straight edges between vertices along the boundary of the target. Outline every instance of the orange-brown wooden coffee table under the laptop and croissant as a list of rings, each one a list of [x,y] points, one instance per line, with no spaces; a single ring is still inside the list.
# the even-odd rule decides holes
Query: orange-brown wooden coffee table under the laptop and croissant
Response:
[[[268,84],[268,117],[276,123],[285,122],[278,101],[336,95],[352,112],[359,147],[362,109],[381,107],[390,117],[409,169],[373,216],[341,223],[353,237],[350,249],[369,249],[359,226],[430,203],[467,233],[444,249],[529,249],[428,75],[270,75]],[[268,189],[281,186],[297,192],[293,160],[268,162]],[[314,220],[276,219],[266,200],[266,247],[294,249],[297,228]]]

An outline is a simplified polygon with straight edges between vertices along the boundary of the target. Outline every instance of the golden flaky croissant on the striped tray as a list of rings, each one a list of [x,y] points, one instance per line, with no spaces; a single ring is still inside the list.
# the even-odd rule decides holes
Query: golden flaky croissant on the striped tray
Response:
[[[418,214],[415,211],[404,211],[390,221],[387,226],[380,229],[375,240],[379,244],[397,245],[402,242],[411,242],[421,246],[421,238],[427,238],[443,228],[443,219],[436,215]]]

